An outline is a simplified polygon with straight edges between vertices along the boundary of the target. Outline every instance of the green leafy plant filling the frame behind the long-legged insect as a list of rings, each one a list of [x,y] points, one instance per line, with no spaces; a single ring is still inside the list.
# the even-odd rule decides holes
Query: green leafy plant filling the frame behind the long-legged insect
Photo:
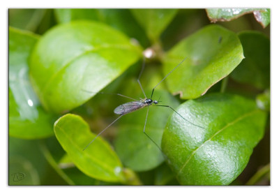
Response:
[[[269,184],[269,12],[208,9],[227,21],[209,24],[193,9],[9,10],[9,184]],[[83,151],[127,102],[107,93],[143,97],[146,51],[147,96],[187,57],[153,99],[202,128],[151,107],[146,133],[163,153],[142,133],[146,110]]]

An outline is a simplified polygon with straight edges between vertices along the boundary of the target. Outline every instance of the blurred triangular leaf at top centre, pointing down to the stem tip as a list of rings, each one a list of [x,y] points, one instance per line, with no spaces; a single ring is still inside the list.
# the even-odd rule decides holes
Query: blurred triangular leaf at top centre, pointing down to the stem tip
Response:
[[[132,9],[137,22],[144,28],[149,39],[154,43],[177,13],[176,9]]]

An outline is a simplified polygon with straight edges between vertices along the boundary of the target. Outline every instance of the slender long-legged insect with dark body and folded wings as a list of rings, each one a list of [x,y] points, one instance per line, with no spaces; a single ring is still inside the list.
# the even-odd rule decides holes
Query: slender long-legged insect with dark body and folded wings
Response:
[[[173,68],[173,69],[163,78],[163,80],[165,80],[165,79],[167,78],[167,76],[169,76],[169,74],[171,74],[176,68],[178,68],[181,64],[183,64],[183,62],[184,62],[186,59],[187,59],[187,57],[184,58],[175,68]],[[141,77],[142,72],[143,72],[143,70],[144,70],[144,66],[145,66],[145,58],[144,58],[144,61],[143,61],[143,64],[142,64],[142,70],[140,71],[140,75],[139,75],[139,77],[137,78],[137,82],[140,84],[140,88],[142,89],[142,93],[144,94],[144,97],[145,97],[145,98],[144,98],[144,99],[141,99],[141,100],[136,100],[136,99],[134,99],[134,98],[130,98],[130,97],[124,96],[124,95],[122,95],[122,94],[115,94],[115,95],[122,96],[122,97],[125,97],[125,98],[130,98],[130,99],[132,99],[132,100],[134,100],[134,101],[129,102],[129,103],[124,103],[123,105],[119,105],[118,107],[116,107],[116,108],[114,109],[114,113],[115,113],[115,114],[119,114],[120,116],[119,116],[117,119],[115,119],[109,126],[107,126],[105,129],[103,129],[98,135],[96,135],[96,137],[94,137],[93,140],[92,140],[89,144],[87,144],[87,146],[86,146],[84,149],[86,149],[87,147],[89,147],[89,145],[90,145],[94,140],[96,140],[96,138],[97,138],[101,133],[103,133],[107,128],[109,128],[110,126],[112,126],[112,124],[114,124],[114,122],[116,122],[118,119],[120,119],[120,118],[121,118],[123,115],[125,115],[125,114],[128,114],[128,113],[130,113],[130,112],[134,112],[134,111],[136,111],[136,110],[140,110],[140,109],[142,109],[142,108],[144,108],[144,107],[147,107],[147,112],[146,112],[146,118],[145,118],[143,133],[144,133],[147,137],[149,137],[149,135],[147,135],[147,134],[145,133],[145,126],[146,126],[146,121],[147,121],[147,117],[148,117],[150,105],[159,106],[159,107],[169,107],[169,108],[172,109],[174,112],[176,112],[176,110],[174,110],[174,109],[173,109],[172,107],[170,107],[169,105],[158,105],[158,103],[161,102],[161,101],[160,101],[160,98],[159,98],[159,100],[152,100],[152,96],[153,96],[154,90],[156,89],[156,87],[158,87],[158,85],[159,85],[161,82],[163,82],[163,80],[160,80],[160,82],[159,82],[155,87],[153,87],[150,98],[146,98],[146,95],[145,95],[145,93],[144,93],[144,89],[142,88],[142,84],[140,83],[140,77]],[[179,114],[178,112],[176,112],[176,114],[178,114],[180,117],[182,117],[181,114]],[[184,120],[188,121],[188,120],[185,119],[184,117],[182,117],[182,118],[183,118]],[[188,123],[193,124],[193,123],[191,123],[190,121],[188,121]],[[197,125],[195,125],[195,124],[193,124],[193,125],[194,125],[194,126],[197,126]],[[201,126],[198,126],[198,127],[201,127]],[[202,127],[201,127],[201,128],[202,128]],[[156,144],[156,142],[154,142],[154,141],[151,139],[151,137],[149,137],[149,139],[150,139],[154,144]],[[156,144],[156,146],[158,147],[158,149],[160,149],[160,147],[158,146],[158,144]],[[83,149],[83,150],[84,150],[84,149]],[[161,149],[160,149],[160,150],[161,150]],[[161,151],[162,151],[162,150],[161,150]]]

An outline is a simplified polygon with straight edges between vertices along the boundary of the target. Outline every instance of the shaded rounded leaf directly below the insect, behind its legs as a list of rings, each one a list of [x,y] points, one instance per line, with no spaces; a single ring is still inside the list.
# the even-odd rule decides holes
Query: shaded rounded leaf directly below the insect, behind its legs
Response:
[[[146,94],[151,94],[151,91],[147,91]],[[179,105],[176,98],[167,91],[156,90],[153,100],[158,100],[158,98],[163,101],[158,105],[171,107]],[[147,107],[122,117],[115,140],[115,149],[119,158],[124,165],[135,171],[151,170],[165,160],[156,144],[160,146],[165,124],[172,110],[167,107],[149,107],[145,132],[156,144],[143,133],[146,112]]]

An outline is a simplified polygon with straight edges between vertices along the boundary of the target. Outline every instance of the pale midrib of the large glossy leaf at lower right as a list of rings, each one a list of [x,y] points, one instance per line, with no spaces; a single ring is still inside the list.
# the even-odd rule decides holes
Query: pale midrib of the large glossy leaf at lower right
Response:
[[[241,117],[238,117],[236,119],[234,119],[234,121],[228,123],[227,125],[225,125],[223,128],[220,128],[220,130],[218,130],[216,133],[214,133],[208,140],[206,140],[205,142],[203,142],[201,145],[199,145],[199,147],[197,147],[197,149],[193,150],[192,154],[190,154],[190,157],[188,158],[188,160],[182,165],[181,169],[179,170],[179,172],[177,173],[177,176],[182,172],[182,170],[186,167],[186,165],[189,163],[189,161],[193,158],[193,156],[195,155],[195,153],[197,153],[197,151],[203,147],[206,142],[209,142],[213,139],[213,137],[215,137],[216,135],[218,135],[219,133],[221,133],[223,130],[225,130],[226,128],[228,128],[229,126],[232,126],[233,124],[236,124],[236,122],[241,121],[242,119],[250,116],[251,114],[254,114],[255,112],[259,112],[259,110],[253,110],[251,112],[248,112],[246,114],[243,114]]]

